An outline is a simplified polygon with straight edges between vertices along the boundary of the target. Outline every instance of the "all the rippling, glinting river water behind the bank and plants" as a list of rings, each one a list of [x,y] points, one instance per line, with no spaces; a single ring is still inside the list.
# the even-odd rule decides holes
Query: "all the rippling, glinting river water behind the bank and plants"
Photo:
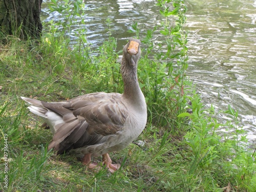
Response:
[[[85,2],[84,27],[94,48],[109,37],[106,18],[112,22],[112,36],[118,39],[117,50],[135,35],[127,32],[135,21],[143,38],[162,20],[153,0]],[[42,20],[63,19],[57,12],[49,13],[49,3],[45,0],[42,4]],[[247,138],[256,141],[256,0],[188,0],[185,4],[187,76],[196,84],[205,105],[227,110],[230,104],[238,110]]]

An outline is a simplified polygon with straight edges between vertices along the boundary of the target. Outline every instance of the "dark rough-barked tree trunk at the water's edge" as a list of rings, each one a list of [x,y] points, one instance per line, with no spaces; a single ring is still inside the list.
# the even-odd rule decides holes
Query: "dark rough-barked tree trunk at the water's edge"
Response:
[[[0,0],[0,33],[22,39],[39,38],[42,0]]]

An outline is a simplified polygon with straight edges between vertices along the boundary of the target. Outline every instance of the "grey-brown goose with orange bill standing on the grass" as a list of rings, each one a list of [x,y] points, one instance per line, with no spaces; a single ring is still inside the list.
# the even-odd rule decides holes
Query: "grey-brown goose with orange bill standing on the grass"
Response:
[[[134,141],[147,121],[145,97],[137,78],[140,45],[139,39],[131,38],[123,47],[122,94],[97,92],[60,102],[21,97],[30,104],[30,112],[40,116],[53,132],[48,150],[80,157],[92,169],[99,165],[91,162],[91,157],[98,156],[102,156],[102,165],[111,173],[120,167],[112,164],[109,153]]]

